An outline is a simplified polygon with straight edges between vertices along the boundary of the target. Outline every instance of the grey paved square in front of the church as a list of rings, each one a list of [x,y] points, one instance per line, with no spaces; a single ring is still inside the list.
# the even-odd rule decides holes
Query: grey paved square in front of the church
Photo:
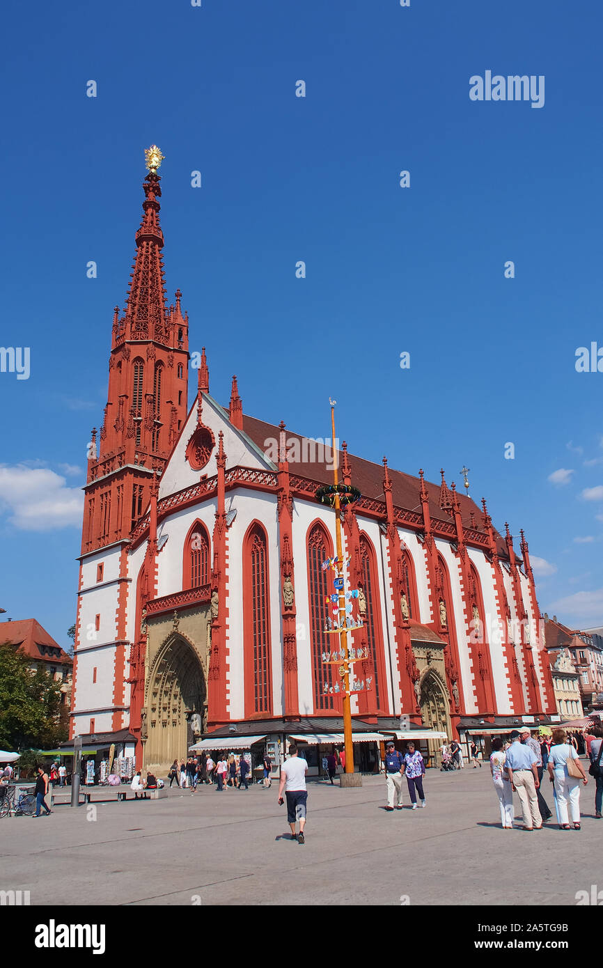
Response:
[[[3,890],[31,904],[575,905],[600,884],[603,821],[594,784],[583,829],[527,835],[499,826],[490,770],[427,772],[427,806],[388,813],[385,779],[359,789],[310,782],[306,843],[291,841],[278,784],[168,790],[159,801],[56,806],[0,820]],[[122,789],[130,789],[122,787]],[[545,776],[545,798],[554,808]],[[115,796],[108,788],[93,796]],[[516,822],[521,822],[517,797]],[[94,816],[95,819],[87,819]]]

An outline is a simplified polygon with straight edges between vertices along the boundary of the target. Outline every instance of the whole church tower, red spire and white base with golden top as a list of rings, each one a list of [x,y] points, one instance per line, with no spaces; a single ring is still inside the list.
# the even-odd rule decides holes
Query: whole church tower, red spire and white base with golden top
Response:
[[[189,319],[182,293],[166,306],[157,173],[146,152],[143,216],[126,307],[113,316],[108,392],[92,431],[84,487],[71,736],[123,730],[129,720],[127,600],[132,529],[156,493],[187,416]],[[136,575],[134,576],[136,580]]]

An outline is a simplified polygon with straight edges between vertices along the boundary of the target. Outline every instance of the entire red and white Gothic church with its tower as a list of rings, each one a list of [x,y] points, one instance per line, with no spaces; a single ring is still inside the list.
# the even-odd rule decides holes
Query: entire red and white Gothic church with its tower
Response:
[[[166,306],[160,176],[143,218],[108,394],[90,448],[75,636],[72,739],[128,736],[166,768],[194,735],[341,730],[325,631],[335,511],[317,503],[332,454],[210,394],[205,351],[188,410],[189,321]],[[195,371],[193,371],[195,372]],[[349,584],[362,627],[354,728],[400,717],[457,737],[547,721],[555,694],[528,542],[521,557],[485,501],[348,454]],[[228,741],[225,740],[225,745]]]

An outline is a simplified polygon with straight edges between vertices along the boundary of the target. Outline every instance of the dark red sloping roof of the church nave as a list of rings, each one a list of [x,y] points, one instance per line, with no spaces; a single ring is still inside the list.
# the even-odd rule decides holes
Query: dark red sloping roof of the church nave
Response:
[[[226,414],[227,415],[227,414]],[[275,424],[266,423],[264,420],[258,420],[256,417],[250,417],[243,415],[243,430],[245,434],[256,444],[256,446],[263,452],[266,449],[266,441],[269,439],[279,440],[281,434],[280,427]],[[292,431],[286,429],[286,440],[287,444],[289,441],[296,439],[299,443],[299,453],[300,455],[308,455],[312,453],[312,447],[308,446],[308,441],[312,443],[310,438],[305,438],[300,434],[295,434]],[[304,441],[306,444],[304,445]],[[292,444],[289,444],[292,447]],[[343,451],[338,451],[338,467],[341,467],[344,459]],[[383,467],[381,464],[374,464],[372,461],[367,461],[363,457],[356,457],[353,454],[347,455],[351,467],[351,481],[354,487],[357,487],[365,498],[385,500],[383,494]],[[332,484],[333,482],[333,470],[327,466],[325,461],[289,461],[289,472],[292,474],[299,474],[300,477],[309,477],[311,480],[316,480],[319,484]],[[412,474],[407,474],[402,470],[389,469],[389,475],[392,482],[392,499],[394,501],[394,506],[403,508],[407,511],[415,511],[420,513],[421,511],[421,501],[419,498],[419,492],[421,488],[421,481],[419,477],[414,477]],[[453,518],[445,511],[443,511],[439,506],[441,482],[434,484],[431,481],[425,481],[425,487],[429,496],[429,509],[432,517],[439,519],[440,521],[453,521]],[[475,516],[475,530],[482,531],[483,528],[483,511],[477,506],[475,501],[471,498],[467,498],[466,495],[457,493],[461,507],[461,518],[465,528],[471,528],[470,515],[471,512]],[[500,558],[508,559],[506,544],[498,534],[495,529],[495,538],[497,541],[497,552]],[[521,559],[517,558],[518,563],[521,563]]]

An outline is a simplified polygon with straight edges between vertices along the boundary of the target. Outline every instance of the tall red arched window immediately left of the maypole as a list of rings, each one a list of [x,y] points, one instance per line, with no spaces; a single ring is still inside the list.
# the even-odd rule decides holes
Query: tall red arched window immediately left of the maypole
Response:
[[[310,597],[310,626],[312,634],[312,678],[315,711],[333,710],[333,694],[325,692],[334,685],[333,666],[322,661],[323,652],[331,652],[337,645],[337,636],[324,631],[327,619],[326,597],[330,594],[330,569],[324,570],[322,562],[333,557],[333,545],[325,529],[316,524],[308,535],[308,591]]]

